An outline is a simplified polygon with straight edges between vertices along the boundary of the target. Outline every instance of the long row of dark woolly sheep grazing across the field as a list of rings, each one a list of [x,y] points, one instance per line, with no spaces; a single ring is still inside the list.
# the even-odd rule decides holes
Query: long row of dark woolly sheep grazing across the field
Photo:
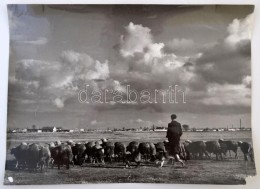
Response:
[[[180,143],[179,156],[182,160],[211,158],[211,154],[216,155],[216,159],[223,159],[229,151],[235,153],[240,147],[247,161],[250,157],[253,160],[253,149],[247,142],[235,142],[219,139],[218,141],[190,141]],[[123,162],[125,167],[130,166],[131,162],[136,166],[141,162],[155,162],[161,167],[166,160],[173,162],[173,157],[168,154],[170,145],[168,141],[158,142],[136,142],[132,141],[128,145],[122,142],[111,142],[107,139],[92,142],[73,142],[69,140],[61,143],[60,141],[49,144],[27,144],[21,143],[11,149],[11,154],[17,161],[17,169],[47,170],[48,167],[57,166],[60,169],[65,165],[69,169],[70,165],[83,165],[83,163]]]

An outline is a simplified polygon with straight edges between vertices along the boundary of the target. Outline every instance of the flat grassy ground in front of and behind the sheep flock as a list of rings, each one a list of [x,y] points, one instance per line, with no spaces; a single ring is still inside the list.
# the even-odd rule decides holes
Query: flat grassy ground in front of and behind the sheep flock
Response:
[[[11,184],[81,184],[81,183],[186,183],[186,184],[245,184],[245,177],[255,175],[255,164],[245,163],[243,154],[239,150],[238,159],[227,156],[223,161],[191,160],[185,167],[179,164],[166,164],[159,168],[154,163],[142,163],[140,167],[125,169],[122,163],[84,164],[66,170],[49,169],[47,172],[17,171],[14,169],[14,157],[10,149],[21,141],[49,142],[55,140],[90,141],[100,138],[109,138],[112,141],[128,143],[138,141],[162,141],[165,133],[161,132],[120,132],[120,133],[40,133],[40,134],[9,134],[7,139],[7,166],[4,183]],[[210,132],[210,133],[184,133],[183,140],[217,140],[219,138],[242,140],[251,142],[250,132]],[[233,154],[234,155],[234,154]],[[8,181],[13,178],[13,183]]]

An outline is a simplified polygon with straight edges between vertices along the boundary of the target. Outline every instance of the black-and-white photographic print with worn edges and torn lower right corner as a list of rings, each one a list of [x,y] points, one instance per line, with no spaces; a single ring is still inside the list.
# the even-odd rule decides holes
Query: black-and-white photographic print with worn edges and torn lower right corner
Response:
[[[7,12],[5,185],[241,185],[256,175],[254,5]]]

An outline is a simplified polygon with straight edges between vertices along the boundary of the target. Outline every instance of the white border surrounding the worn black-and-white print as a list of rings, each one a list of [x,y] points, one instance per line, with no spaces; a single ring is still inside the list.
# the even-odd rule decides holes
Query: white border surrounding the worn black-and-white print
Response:
[[[82,185],[41,185],[41,186],[4,186],[4,172],[5,172],[5,151],[6,151],[6,121],[7,121],[7,87],[8,87],[8,64],[9,64],[9,27],[7,17],[7,4],[252,4],[255,5],[254,9],[254,29],[252,37],[252,131],[253,131],[253,144],[255,152],[256,169],[258,175],[255,177],[247,178],[247,185],[241,186],[219,186],[219,185],[187,185],[187,184],[82,184]],[[208,188],[259,188],[260,186],[260,1],[259,0],[1,0],[0,1],[0,188],[13,188],[19,187],[20,189],[44,189],[44,188],[57,188],[67,189],[132,189],[144,188],[178,188],[178,189],[208,189]]]

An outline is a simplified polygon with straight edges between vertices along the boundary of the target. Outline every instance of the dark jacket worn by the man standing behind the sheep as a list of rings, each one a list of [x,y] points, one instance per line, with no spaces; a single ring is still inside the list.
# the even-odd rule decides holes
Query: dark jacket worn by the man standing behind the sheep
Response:
[[[181,124],[177,121],[172,121],[168,124],[168,130],[166,138],[168,138],[169,141],[179,141],[180,137],[182,135],[182,129]]]

